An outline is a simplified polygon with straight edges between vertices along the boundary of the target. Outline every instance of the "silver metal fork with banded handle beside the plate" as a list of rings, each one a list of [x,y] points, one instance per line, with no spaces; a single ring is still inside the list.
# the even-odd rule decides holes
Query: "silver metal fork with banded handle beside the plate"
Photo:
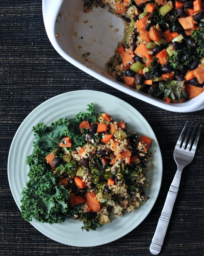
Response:
[[[198,144],[198,139],[200,136],[200,132],[201,132],[201,125],[198,129],[197,135],[194,139],[193,142],[193,138],[194,138],[194,134],[195,134],[195,130],[197,128],[197,124],[195,125],[191,136],[190,136],[190,132],[191,132],[191,128],[193,123],[191,123],[186,137],[184,139],[184,142],[182,143],[182,139],[184,138],[184,134],[186,133],[187,130],[187,125],[188,125],[188,121],[186,122],[183,131],[181,132],[181,135],[179,137],[179,140],[176,143],[174,152],[173,152],[173,157],[174,160],[177,164],[177,171],[176,174],[174,176],[174,179],[171,183],[171,186],[169,188],[169,192],[167,194],[167,198],[164,204],[164,208],[162,210],[161,216],[159,218],[157,227],[156,227],[156,231],[154,233],[153,239],[152,239],[152,243],[150,245],[150,252],[154,255],[159,254],[161,249],[162,249],[162,245],[164,242],[164,237],[169,225],[169,221],[170,221],[170,217],[171,217],[171,213],[173,210],[173,205],[174,202],[176,200],[176,196],[178,194],[178,190],[179,190],[179,184],[180,184],[180,180],[181,180],[181,173],[184,169],[185,166],[189,165],[189,163],[192,162],[194,155],[195,155],[195,150]],[[190,136],[190,139],[189,139]],[[189,142],[188,142],[189,140]],[[187,144],[188,142],[188,144]],[[192,144],[193,142],[193,144]]]

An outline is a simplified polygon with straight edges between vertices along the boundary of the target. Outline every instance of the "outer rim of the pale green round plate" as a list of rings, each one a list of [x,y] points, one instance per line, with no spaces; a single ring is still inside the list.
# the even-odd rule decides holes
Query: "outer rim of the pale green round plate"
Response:
[[[16,138],[16,136],[18,136],[18,133],[20,132],[20,130],[22,129],[22,127],[24,126],[24,124],[27,122],[27,120],[29,120],[29,118],[30,118],[30,116],[32,116],[33,115],[33,113],[35,113],[36,111],[38,111],[38,109],[41,109],[42,108],[42,106],[44,106],[44,105],[46,105],[46,104],[49,104],[49,102],[51,102],[51,101],[55,101],[55,100],[57,100],[58,98],[61,98],[61,97],[66,97],[66,95],[73,95],[73,94],[78,94],[79,92],[81,92],[81,93],[90,93],[90,91],[92,92],[92,93],[94,93],[94,94],[98,94],[98,95],[101,95],[101,96],[106,96],[106,95],[108,95],[109,97],[113,97],[115,100],[117,100],[117,101],[120,101],[120,102],[123,102],[124,104],[127,104],[133,111],[135,111],[135,113],[137,113],[143,120],[145,120],[145,122],[149,125],[149,123],[147,122],[147,120],[145,119],[145,117],[143,117],[140,113],[139,113],[139,111],[138,110],[136,110],[131,104],[129,104],[129,103],[127,103],[127,102],[125,102],[124,100],[122,100],[122,99],[120,99],[120,98],[118,98],[118,97],[116,97],[116,96],[113,96],[113,95],[109,95],[109,94],[107,94],[107,93],[104,93],[104,92],[101,92],[101,91],[96,91],[96,90],[75,90],[75,91],[69,91],[69,92],[67,92],[67,93],[63,93],[63,94],[60,94],[60,95],[56,95],[56,96],[54,96],[54,97],[52,97],[52,98],[50,98],[50,99],[48,99],[48,100],[46,100],[46,101],[44,101],[43,103],[41,103],[41,104],[39,104],[35,109],[33,109],[33,111],[31,111],[29,114],[28,114],[28,116],[23,120],[23,122],[20,124],[20,126],[19,126],[19,128],[17,129],[17,131],[16,131],[16,133],[15,133],[15,135],[14,135],[14,138],[13,138],[13,141],[12,141],[12,143],[11,143],[11,147],[10,147],[10,151],[9,151],[9,154],[8,154],[8,182],[9,182],[9,185],[10,185],[10,189],[11,189],[11,192],[12,192],[12,195],[13,195],[13,197],[14,197],[14,200],[15,200],[15,202],[16,202],[16,204],[17,204],[17,206],[18,206],[18,208],[20,209],[20,204],[18,204],[18,202],[17,202],[17,199],[16,199],[16,197],[15,197],[15,195],[14,195],[14,188],[11,186],[11,177],[10,177],[10,175],[11,175],[11,171],[10,171],[10,165],[11,165],[11,152],[12,152],[12,149],[13,149],[13,145],[15,145],[15,138]],[[98,96],[97,95],[97,96]],[[90,102],[89,102],[90,103]],[[60,118],[60,117],[59,117]],[[162,182],[162,173],[163,173],[163,163],[162,163],[162,154],[161,154],[161,151],[160,151],[160,147],[159,147],[159,144],[158,144],[158,141],[157,141],[157,138],[156,138],[156,136],[155,136],[155,133],[154,133],[154,131],[152,130],[152,128],[151,128],[151,126],[149,125],[149,128],[151,129],[151,132],[153,133],[153,135],[154,135],[154,140],[155,140],[155,142],[156,142],[156,144],[157,144],[157,153],[158,153],[158,155],[159,155],[159,157],[160,157],[160,180],[159,180],[159,184],[157,184],[157,188],[158,188],[158,190],[157,190],[157,192],[156,192],[156,196],[155,196],[155,200],[153,201],[153,202],[151,202],[151,208],[146,212],[145,211],[145,214],[143,214],[143,216],[142,216],[142,218],[141,218],[141,221],[140,221],[140,223],[142,222],[142,221],[144,221],[144,219],[148,216],[148,214],[150,213],[150,211],[152,210],[152,208],[153,208],[153,206],[154,206],[154,204],[155,204],[155,202],[156,202],[156,200],[157,200],[157,198],[158,198],[158,195],[159,195],[159,191],[160,191],[160,186],[161,186],[161,182]],[[63,244],[67,244],[67,245],[71,245],[71,246],[80,246],[80,247],[87,247],[87,245],[79,245],[79,244],[74,244],[74,243],[65,243],[65,242],[63,242],[62,240],[60,240],[60,239],[57,239],[57,238],[54,238],[53,239],[53,237],[50,237],[46,232],[44,232],[43,230],[40,230],[38,227],[36,227],[36,226],[38,226],[37,224],[44,224],[44,223],[39,223],[39,222],[37,222],[37,221],[35,221],[35,219],[32,221],[32,222],[30,222],[30,224],[31,225],[33,225],[39,232],[41,232],[41,233],[43,233],[45,236],[47,236],[48,238],[50,238],[50,239],[52,239],[52,240],[54,240],[54,241],[57,241],[57,242],[60,242],[60,243],[63,243]],[[140,224],[139,223],[139,224]],[[138,225],[139,225],[138,224]],[[50,225],[50,224],[48,224],[48,225]],[[57,225],[57,224],[56,224]],[[63,223],[62,223],[62,225],[63,225]],[[137,225],[137,226],[138,226]],[[137,227],[136,226],[136,227]],[[112,240],[109,240],[109,241],[106,241],[106,242],[103,242],[103,241],[101,241],[100,243],[95,243],[94,245],[88,245],[88,246],[98,246],[98,245],[102,245],[102,244],[106,244],[106,243],[109,243],[109,242],[113,242],[113,241],[115,241],[115,240],[117,240],[117,239],[119,239],[119,238],[121,238],[121,237],[123,237],[123,236],[125,236],[127,233],[129,233],[129,232],[131,232],[133,229],[135,229],[136,227],[133,227],[131,230],[129,230],[128,232],[124,232],[122,235],[120,235],[119,237],[117,237],[117,238],[113,238]],[[94,232],[96,232],[96,231],[94,231]]]

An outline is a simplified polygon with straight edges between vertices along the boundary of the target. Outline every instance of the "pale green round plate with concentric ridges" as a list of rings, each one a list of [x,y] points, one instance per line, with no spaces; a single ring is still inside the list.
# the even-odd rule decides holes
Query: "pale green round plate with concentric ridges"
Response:
[[[153,157],[154,168],[149,173],[150,199],[135,212],[123,217],[112,217],[112,222],[96,231],[82,231],[83,224],[71,217],[62,224],[39,223],[35,219],[31,224],[45,236],[72,246],[96,246],[112,242],[136,228],[151,211],[162,181],[162,156],[155,134],[146,119],[131,105],[112,95],[99,91],[79,90],[55,96],[40,104],[24,119],[11,144],[8,156],[8,180],[13,197],[20,209],[21,191],[28,181],[29,166],[26,158],[33,152],[33,126],[40,122],[50,125],[61,117],[71,118],[79,111],[86,111],[87,104],[93,102],[98,112],[107,112],[114,119],[123,119],[133,131],[138,131],[153,139],[151,150],[156,150]]]

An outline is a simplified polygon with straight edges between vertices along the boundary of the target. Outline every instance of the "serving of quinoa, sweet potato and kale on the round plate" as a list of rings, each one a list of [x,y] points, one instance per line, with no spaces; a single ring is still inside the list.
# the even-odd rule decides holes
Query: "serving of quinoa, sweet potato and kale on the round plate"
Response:
[[[82,229],[96,230],[111,215],[131,213],[149,199],[144,188],[145,173],[153,168],[152,139],[87,106],[88,112],[72,119],[33,127],[30,180],[21,199],[26,221],[53,224],[72,216]]]

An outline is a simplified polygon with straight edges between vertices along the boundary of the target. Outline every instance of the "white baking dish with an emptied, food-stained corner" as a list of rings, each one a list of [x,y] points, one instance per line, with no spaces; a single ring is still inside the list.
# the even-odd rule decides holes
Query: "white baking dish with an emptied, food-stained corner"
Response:
[[[121,18],[94,8],[83,12],[83,0],[43,0],[43,19],[50,42],[56,51],[74,66],[123,93],[174,112],[192,112],[204,108],[204,93],[184,103],[173,104],[117,82],[107,74],[105,63],[114,55],[123,38]],[[83,54],[90,53],[87,59]]]

